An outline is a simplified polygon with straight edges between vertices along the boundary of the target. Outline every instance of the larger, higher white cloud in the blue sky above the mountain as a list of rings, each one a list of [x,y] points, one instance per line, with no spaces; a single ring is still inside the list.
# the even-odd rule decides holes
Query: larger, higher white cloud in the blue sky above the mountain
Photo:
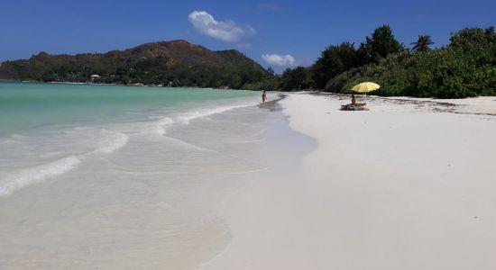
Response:
[[[205,11],[194,11],[188,15],[189,23],[207,36],[217,40],[234,42],[255,33],[249,25],[239,25],[232,21],[219,22]]]

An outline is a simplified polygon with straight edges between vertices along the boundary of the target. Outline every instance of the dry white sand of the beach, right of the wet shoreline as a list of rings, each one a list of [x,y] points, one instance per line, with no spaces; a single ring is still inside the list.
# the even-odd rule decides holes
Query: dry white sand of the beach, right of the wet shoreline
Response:
[[[496,98],[345,98],[282,101],[318,147],[227,201],[234,241],[200,268],[496,269]]]

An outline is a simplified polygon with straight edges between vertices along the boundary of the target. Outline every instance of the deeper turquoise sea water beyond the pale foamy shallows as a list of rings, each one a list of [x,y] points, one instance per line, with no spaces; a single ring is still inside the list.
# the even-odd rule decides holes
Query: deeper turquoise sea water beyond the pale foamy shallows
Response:
[[[109,122],[146,121],[150,116],[221,106],[253,97],[250,91],[0,83],[0,136]],[[209,102],[213,102],[210,104]]]

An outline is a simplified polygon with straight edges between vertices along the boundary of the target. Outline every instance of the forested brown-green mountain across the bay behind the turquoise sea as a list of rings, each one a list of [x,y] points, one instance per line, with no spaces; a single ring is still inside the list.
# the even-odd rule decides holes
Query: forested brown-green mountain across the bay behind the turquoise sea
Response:
[[[94,78],[99,83],[241,88],[268,73],[237,50],[212,51],[186,40],[95,54],[41,52],[0,67],[0,79],[87,82],[93,75],[100,76]]]

